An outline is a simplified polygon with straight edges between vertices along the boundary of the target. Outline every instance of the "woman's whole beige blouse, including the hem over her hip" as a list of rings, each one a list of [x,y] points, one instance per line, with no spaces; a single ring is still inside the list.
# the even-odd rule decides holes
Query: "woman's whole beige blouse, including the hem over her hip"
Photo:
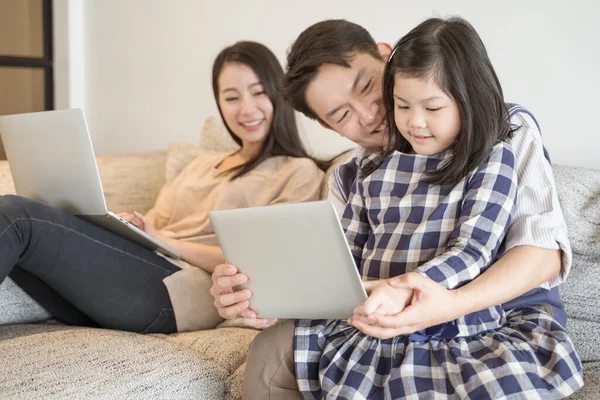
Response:
[[[323,171],[310,159],[271,157],[231,181],[217,170],[227,156],[201,155],[161,189],[146,216],[162,235],[218,246],[209,211],[319,200]],[[164,279],[177,330],[214,327],[221,319],[208,292],[210,275],[182,260],[169,261],[182,268]]]

